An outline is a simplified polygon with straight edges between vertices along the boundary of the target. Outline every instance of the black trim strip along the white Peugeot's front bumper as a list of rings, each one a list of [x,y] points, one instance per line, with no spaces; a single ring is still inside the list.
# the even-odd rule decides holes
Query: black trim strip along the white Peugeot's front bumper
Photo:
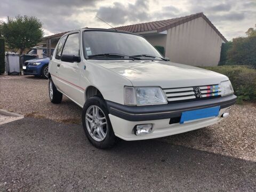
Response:
[[[209,100],[170,103],[156,106],[124,106],[119,103],[107,101],[109,113],[128,121],[149,121],[180,117],[183,111],[206,107],[220,106],[220,109],[230,107],[236,102],[236,95],[228,95]]]

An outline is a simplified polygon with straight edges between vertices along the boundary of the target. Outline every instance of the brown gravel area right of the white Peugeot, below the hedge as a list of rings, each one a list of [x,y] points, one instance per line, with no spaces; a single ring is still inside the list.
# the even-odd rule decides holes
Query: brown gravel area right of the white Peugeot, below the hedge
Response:
[[[159,140],[256,162],[256,106],[235,105],[218,124]]]

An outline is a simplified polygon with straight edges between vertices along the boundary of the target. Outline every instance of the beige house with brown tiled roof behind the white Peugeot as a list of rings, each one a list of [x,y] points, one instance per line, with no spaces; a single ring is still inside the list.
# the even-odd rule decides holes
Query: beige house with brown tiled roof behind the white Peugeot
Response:
[[[115,29],[140,34],[154,46],[163,47],[165,57],[172,62],[193,66],[217,66],[221,45],[227,42],[203,13]],[[50,50],[65,33],[44,37],[42,45]]]

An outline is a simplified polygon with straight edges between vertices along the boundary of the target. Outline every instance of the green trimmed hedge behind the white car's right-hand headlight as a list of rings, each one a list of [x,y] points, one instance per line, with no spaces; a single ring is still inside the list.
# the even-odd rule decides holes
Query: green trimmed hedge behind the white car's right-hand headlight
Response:
[[[256,70],[247,66],[204,67],[205,69],[228,76],[233,85],[238,103],[256,101]]]

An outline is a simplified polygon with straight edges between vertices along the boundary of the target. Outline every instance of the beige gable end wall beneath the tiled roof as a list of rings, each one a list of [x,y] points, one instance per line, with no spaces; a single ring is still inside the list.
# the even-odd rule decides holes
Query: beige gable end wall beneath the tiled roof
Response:
[[[200,17],[167,30],[165,55],[186,65],[217,66],[221,43],[221,37]]]

